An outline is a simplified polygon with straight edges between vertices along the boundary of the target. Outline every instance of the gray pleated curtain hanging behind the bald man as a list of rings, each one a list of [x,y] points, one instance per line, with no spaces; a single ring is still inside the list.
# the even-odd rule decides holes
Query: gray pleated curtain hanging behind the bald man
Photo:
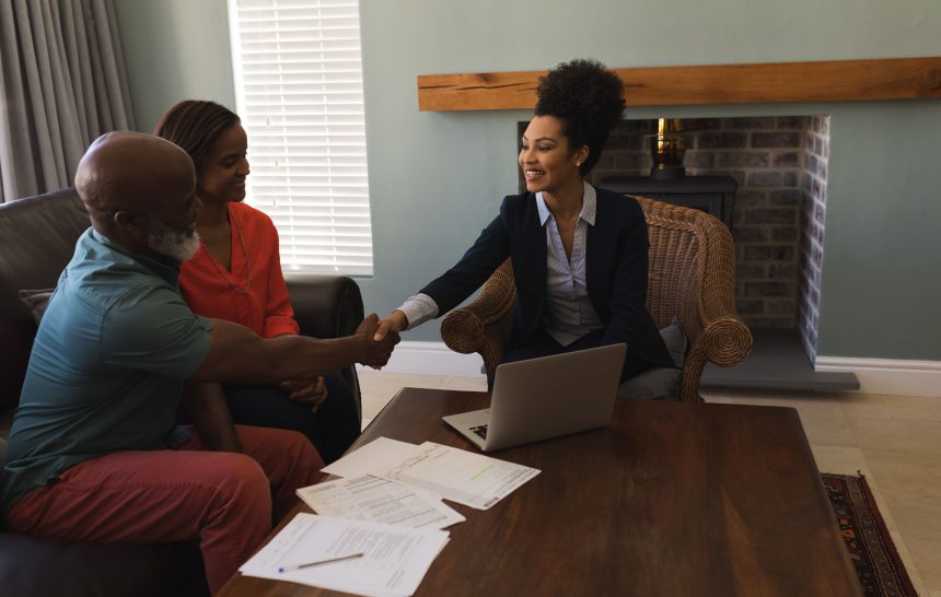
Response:
[[[0,202],[72,185],[89,144],[133,130],[112,0],[0,0]]]

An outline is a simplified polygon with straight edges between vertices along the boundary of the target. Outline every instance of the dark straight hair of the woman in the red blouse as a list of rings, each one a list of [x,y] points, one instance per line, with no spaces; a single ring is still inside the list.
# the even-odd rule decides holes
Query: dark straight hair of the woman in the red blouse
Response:
[[[237,114],[216,102],[185,99],[166,110],[153,133],[183,148],[198,175],[219,136],[241,121]]]

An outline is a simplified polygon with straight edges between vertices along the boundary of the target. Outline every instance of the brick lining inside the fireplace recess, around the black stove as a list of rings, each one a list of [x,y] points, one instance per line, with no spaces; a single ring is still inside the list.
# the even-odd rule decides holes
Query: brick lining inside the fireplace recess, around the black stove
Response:
[[[685,118],[687,176],[725,175],[739,184],[735,239],[736,308],[755,329],[797,329],[816,359],[821,266],[826,215],[828,116]],[[590,175],[646,176],[646,136],[657,120],[624,120]]]

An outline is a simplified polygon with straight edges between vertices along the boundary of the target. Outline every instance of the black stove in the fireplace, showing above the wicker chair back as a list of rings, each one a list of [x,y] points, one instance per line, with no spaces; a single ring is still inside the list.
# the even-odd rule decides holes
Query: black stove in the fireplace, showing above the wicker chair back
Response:
[[[671,179],[608,176],[599,180],[597,186],[624,195],[639,195],[674,206],[702,210],[732,230],[739,183],[731,176],[683,176]]]

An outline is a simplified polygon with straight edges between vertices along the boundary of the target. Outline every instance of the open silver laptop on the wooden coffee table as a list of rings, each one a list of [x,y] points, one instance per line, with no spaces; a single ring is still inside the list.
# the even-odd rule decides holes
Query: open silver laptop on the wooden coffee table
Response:
[[[611,423],[627,344],[503,363],[490,408],[444,417],[484,452],[550,440]]]

